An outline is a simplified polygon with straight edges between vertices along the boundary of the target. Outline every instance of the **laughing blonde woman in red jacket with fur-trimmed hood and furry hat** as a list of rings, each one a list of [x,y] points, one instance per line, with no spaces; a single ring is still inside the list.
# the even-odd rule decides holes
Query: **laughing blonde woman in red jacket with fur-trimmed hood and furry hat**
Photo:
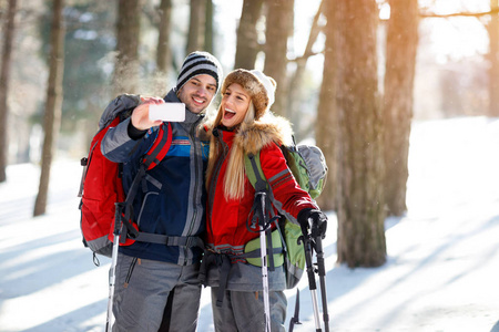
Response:
[[[273,208],[292,222],[318,227],[327,218],[299,188],[279,145],[289,143],[289,123],[272,115],[276,83],[259,71],[235,70],[222,86],[222,102],[213,123],[206,174],[207,252],[205,283],[212,287],[216,331],[265,331],[262,268],[247,262],[244,247],[259,234],[248,225],[255,190],[245,174],[245,154],[261,153]],[[273,228],[275,226],[273,225]],[[268,272],[272,331],[285,331],[283,266]]]

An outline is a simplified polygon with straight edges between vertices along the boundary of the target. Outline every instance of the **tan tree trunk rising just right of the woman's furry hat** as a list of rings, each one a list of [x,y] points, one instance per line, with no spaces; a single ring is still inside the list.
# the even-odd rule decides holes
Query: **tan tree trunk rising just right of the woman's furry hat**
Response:
[[[294,0],[267,0],[267,20],[265,31],[266,75],[277,82],[274,113],[288,116],[285,110],[287,96],[287,39],[293,34]]]

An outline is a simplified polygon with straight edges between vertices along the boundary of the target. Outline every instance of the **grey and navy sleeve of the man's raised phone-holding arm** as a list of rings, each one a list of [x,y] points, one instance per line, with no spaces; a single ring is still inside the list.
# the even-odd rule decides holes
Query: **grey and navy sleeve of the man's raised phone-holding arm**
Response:
[[[104,138],[102,138],[101,152],[111,162],[125,163],[132,159],[133,156],[142,155],[146,151],[146,139],[134,141],[129,136],[129,123],[130,117],[118,126],[110,127]]]

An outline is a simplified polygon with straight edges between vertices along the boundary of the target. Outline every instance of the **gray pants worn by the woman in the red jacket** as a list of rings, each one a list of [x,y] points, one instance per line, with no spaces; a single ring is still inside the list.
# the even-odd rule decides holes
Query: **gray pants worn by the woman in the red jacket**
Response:
[[[264,332],[263,292],[226,290],[222,307],[216,307],[217,287],[212,287],[213,321],[216,332]],[[269,291],[271,331],[286,331],[287,299],[283,291]]]

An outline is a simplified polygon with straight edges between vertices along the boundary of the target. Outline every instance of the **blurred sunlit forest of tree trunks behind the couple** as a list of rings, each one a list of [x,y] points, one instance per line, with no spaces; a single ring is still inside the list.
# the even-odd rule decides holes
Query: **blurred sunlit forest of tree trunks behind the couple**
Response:
[[[411,123],[499,116],[497,0],[3,0],[0,9],[0,181],[7,165],[39,164],[35,216],[52,159],[84,156],[119,93],[164,95],[194,50],[212,52],[225,73],[256,68],[276,79],[273,111],[325,153],[319,204],[337,212],[338,261],[349,267],[386,261],[384,220],[407,209]]]

